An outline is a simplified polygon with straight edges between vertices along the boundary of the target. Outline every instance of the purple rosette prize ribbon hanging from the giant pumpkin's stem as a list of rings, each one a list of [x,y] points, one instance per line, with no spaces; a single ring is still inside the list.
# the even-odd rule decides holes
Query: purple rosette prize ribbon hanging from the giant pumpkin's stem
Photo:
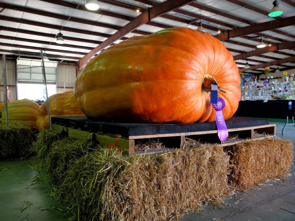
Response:
[[[218,137],[220,141],[225,141],[225,139],[228,137],[228,131],[222,113],[222,110],[225,108],[225,101],[218,97],[217,103],[212,105],[215,109],[215,121],[217,125]]]

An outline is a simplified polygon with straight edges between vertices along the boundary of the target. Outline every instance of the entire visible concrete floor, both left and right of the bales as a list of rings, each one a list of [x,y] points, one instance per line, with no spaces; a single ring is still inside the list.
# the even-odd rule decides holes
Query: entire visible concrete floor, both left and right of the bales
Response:
[[[277,132],[281,134],[284,123],[271,123],[277,124]],[[294,126],[288,126],[284,136],[279,137],[291,140],[295,137]],[[56,210],[48,209],[59,205],[50,197],[50,187],[44,183],[31,185],[38,173],[29,165],[29,159],[0,161],[0,221],[65,220]],[[1,171],[3,167],[8,170]],[[239,192],[225,199],[222,207],[208,205],[203,211],[185,215],[181,221],[295,221],[294,167],[291,173],[293,175],[284,181],[272,181],[247,193]]]

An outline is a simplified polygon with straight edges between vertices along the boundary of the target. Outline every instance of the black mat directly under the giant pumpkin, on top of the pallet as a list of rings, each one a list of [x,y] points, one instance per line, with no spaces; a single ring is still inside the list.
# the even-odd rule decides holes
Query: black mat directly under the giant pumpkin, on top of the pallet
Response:
[[[165,133],[184,133],[217,130],[215,122],[190,124],[156,124],[156,123],[106,123],[88,119],[85,116],[52,117],[53,123],[81,128],[83,131],[120,134],[121,136],[140,136]],[[233,117],[226,122],[227,128],[251,127],[269,124],[268,120]]]

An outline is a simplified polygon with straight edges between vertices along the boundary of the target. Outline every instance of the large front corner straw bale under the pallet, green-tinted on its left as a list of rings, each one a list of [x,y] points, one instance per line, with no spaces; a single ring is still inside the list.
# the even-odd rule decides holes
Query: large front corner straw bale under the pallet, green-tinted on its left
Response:
[[[219,146],[147,156],[78,149],[78,141],[57,141],[45,164],[53,194],[80,220],[168,220],[229,192],[229,157]]]

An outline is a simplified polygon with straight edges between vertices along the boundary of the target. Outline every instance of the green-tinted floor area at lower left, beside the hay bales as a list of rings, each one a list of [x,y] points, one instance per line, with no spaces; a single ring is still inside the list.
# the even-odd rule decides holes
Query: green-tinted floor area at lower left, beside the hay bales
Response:
[[[0,161],[0,221],[65,220],[57,210],[45,183],[32,185],[38,172],[30,159]]]

